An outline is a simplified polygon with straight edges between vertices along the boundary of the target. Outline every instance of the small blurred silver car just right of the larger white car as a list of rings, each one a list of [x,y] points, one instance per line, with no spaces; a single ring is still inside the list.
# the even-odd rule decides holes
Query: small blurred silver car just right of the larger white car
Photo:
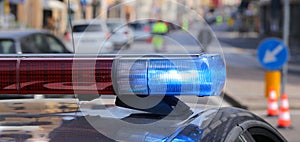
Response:
[[[122,19],[108,19],[106,21],[108,28],[111,31],[109,40],[114,44],[115,49],[120,49],[125,46],[130,48],[133,44],[133,31]]]

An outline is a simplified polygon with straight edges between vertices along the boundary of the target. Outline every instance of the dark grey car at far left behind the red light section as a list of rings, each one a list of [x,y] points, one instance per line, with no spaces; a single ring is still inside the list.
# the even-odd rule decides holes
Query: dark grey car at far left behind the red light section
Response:
[[[64,43],[46,30],[0,32],[0,54],[70,53]]]

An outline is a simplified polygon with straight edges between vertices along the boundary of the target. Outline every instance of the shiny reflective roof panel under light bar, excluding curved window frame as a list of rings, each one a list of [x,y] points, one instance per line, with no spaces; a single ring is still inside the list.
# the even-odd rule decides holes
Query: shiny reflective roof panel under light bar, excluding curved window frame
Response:
[[[200,139],[217,109],[161,116],[77,99],[0,101],[0,141],[157,141]],[[193,133],[193,134],[191,134]]]

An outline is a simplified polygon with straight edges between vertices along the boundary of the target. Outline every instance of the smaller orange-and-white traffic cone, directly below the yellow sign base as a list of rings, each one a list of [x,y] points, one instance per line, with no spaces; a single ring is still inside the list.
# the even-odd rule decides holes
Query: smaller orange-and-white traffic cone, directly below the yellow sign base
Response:
[[[278,116],[279,111],[276,91],[274,88],[271,88],[269,92],[267,114],[268,116]]]

